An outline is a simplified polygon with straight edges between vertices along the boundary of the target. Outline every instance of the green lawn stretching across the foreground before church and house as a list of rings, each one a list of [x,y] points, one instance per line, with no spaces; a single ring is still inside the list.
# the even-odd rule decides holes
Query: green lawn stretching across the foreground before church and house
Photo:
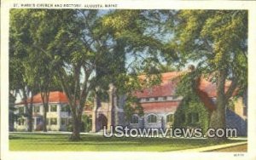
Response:
[[[68,134],[9,134],[10,151],[175,151],[233,143],[241,140],[191,140],[173,138],[105,138],[81,135],[82,140],[68,140]]]

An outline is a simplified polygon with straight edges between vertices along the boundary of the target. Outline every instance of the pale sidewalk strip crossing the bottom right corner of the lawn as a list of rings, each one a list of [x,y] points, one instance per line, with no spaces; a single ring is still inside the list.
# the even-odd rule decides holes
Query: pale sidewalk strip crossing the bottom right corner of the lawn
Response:
[[[247,144],[247,141],[231,143],[231,144],[224,144],[224,145],[217,145],[217,146],[205,146],[205,147],[195,148],[195,149],[179,150],[178,152],[212,151],[212,150],[218,150],[218,149],[226,148],[226,147],[230,147],[230,146],[240,146],[240,145],[245,145],[245,144]]]

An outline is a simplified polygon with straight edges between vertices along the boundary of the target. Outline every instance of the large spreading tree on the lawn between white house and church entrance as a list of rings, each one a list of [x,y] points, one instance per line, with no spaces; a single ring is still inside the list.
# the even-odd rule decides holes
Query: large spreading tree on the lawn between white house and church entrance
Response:
[[[75,10],[70,16],[72,23],[61,26],[50,50],[73,114],[72,139],[79,140],[82,111],[90,91],[106,89],[109,83],[124,90],[127,51],[137,52],[148,47],[146,42],[155,41],[143,35],[143,21],[133,19],[142,19],[137,11]],[[126,21],[120,19],[122,16]]]

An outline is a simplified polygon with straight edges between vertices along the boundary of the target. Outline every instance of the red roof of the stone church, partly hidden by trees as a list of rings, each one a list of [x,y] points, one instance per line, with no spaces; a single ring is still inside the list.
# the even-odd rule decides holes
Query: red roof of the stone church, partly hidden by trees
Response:
[[[136,91],[134,93],[137,98],[149,98],[149,97],[163,97],[173,96],[178,83],[178,77],[181,76],[184,71],[172,71],[162,74],[162,83],[155,85],[152,88],[143,89],[142,91]],[[145,78],[145,76],[141,76]],[[230,86],[230,82],[226,82],[225,90]],[[199,87],[197,89],[202,102],[211,111],[215,108],[212,102],[212,98],[217,96],[216,84],[207,81],[205,78],[200,78]],[[142,106],[145,112],[163,112],[163,111],[175,111],[180,101],[172,102],[144,102]]]

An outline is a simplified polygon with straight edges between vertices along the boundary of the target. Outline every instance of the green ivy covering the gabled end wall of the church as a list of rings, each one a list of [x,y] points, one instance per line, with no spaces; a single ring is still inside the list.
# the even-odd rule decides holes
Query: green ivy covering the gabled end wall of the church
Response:
[[[183,74],[180,82],[177,84],[176,95],[182,96],[183,100],[179,104],[174,115],[174,127],[198,127],[207,131],[209,127],[210,112],[207,106],[201,102],[201,99],[196,92],[198,88],[197,79],[199,78],[196,71],[191,71]],[[189,117],[191,114],[198,114],[198,122],[191,122]]]

